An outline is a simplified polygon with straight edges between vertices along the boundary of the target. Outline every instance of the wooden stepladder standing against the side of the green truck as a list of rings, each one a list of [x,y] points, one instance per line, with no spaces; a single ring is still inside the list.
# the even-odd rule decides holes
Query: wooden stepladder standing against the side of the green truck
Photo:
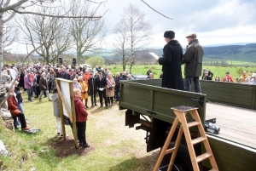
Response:
[[[163,157],[166,154],[169,154],[169,153],[172,153],[172,157],[171,157],[171,160],[169,162],[167,170],[168,171],[172,170],[172,166],[173,166],[175,157],[177,155],[177,149],[178,149],[178,146],[180,144],[180,140],[182,138],[183,133],[184,133],[187,145],[188,145],[189,156],[190,156],[191,163],[192,163],[194,171],[200,171],[200,168],[198,166],[198,162],[206,160],[207,158],[209,158],[209,160],[211,162],[211,165],[212,165],[211,170],[212,171],[218,171],[218,166],[217,166],[217,163],[215,161],[215,158],[213,157],[212,149],[211,149],[211,147],[209,145],[209,142],[207,140],[207,134],[205,133],[205,130],[202,126],[201,119],[200,119],[200,117],[198,115],[198,112],[197,112],[197,108],[181,105],[181,106],[173,107],[171,109],[174,111],[174,113],[176,115],[176,118],[175,118],[174,122],[172,123],[172,128],[171,128],[171,130],[170,130],[170,132],[167,136],[165,145],[163,146],[163,148],[160,152],[160,156],[159,156],[159,158],[158,158],[158,160],[157,160],[157,162],[154,166],[154,171],[160,170],[159,169],[160,168],[160,163],[162,162]],[[190,113],[191,117],[193,117],[193,119],[195,119],[195,122],[187,123],[187,119],[186,119],[186,112],[187,111]],[[170,144],[170,142],[172,140],[172,136],[175,132],[175,129],[177,128],[177,124],[179,122],[181,123],[181,125],[180,125],[180,128],[178,130],[176,143],[175,143],[175,145],[172,149],[167,149],[168,145]],[[195,126],[198,128],[199,133],[201,134],[201,137],[198,137],[194,140],[191,140],[189,128],[195,127]],[[201,143],[201,142],[204,144],[207,152],[204,153],[204,154],[201,154],[198,157],[196,157],[195,156],[194,145],[198,144],[198,143]]]

